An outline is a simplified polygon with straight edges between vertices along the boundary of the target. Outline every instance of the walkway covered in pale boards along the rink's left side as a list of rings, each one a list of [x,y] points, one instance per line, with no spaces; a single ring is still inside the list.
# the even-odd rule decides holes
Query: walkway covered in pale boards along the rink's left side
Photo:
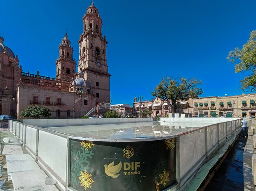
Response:
[[[3,139],[9,139],[9,143],[5,143]],[[0,129],[0,142],[2,149],[2,180],[5,182],[2,186],[4,191],[23,190],[23,191],[58,191],[54,181],[48,178],[45,172],[40,169],[36,161],[27,154],[22,148],[18,139],[13,136],[8,129]],[[46,184],[47,183],[47,184]]]

